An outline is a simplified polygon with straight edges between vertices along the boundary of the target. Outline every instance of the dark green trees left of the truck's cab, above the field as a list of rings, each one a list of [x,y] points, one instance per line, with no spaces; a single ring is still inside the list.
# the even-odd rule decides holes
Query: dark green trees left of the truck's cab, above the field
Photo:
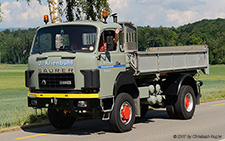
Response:
[[[35,32],[35,28],[16,31],[6,29],[0,32],[1,63],[27,63],[28,53],[24,54],[24,50],[29,52]]]

